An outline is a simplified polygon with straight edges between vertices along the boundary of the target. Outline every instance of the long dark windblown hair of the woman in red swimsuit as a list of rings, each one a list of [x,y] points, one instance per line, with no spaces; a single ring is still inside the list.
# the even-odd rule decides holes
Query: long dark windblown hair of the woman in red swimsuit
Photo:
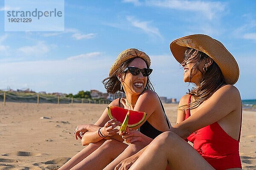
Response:
[[[192,57],[193,56],[193,57]],[[209,99],[215,91],[218,90],[222,85],[226,84],[224,77],[221,73],[221,69],[216,64],[215,61],[212,60],[212,64],[207,68],[207,71],[201,71],[199,69],[199,65],[201,62],[204,62],[209,56],[204,52],[197,51],[193,48],[188,48],[185,51],[183,62],[192,61],[196,62],[196,64],[191,68],[190,71],[190,82],[192,79],[192,72],[200,71],[202,73],[202,80],[199,86],[195,86],[192,89],[188,89],[189,92],[186,94],[190,94],[193,96],[195,101],[190,104],[182,105],[178,107],[179,110],[185,111],[187,109],[194,109],[201,105],[204,101]],[[194,83],[193,83],[194,84]]]

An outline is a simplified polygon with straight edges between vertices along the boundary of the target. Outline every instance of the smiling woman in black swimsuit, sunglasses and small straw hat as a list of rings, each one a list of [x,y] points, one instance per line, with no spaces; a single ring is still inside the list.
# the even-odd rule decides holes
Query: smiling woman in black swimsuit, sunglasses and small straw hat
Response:
[[[109,77],[103,80],[108,93],[125,93],[125,98],[115,99],[109,106],[147,113],[143,124],[118,133],[120,123],[109,120],[108,110],[94,125],[79,125],[77,136],[88,145],[59,170],[113,170],[125,158],[137,153],[160,133],[169,130],[170,123],[163,105],[149,81],[152,72],[147,54],[134,48],[122,51],[111,66]],[[138,130],[137,130],[138,129]],[[80,134],[84,136],[81,137]],[[124,143],[125,141],[125,143]]]

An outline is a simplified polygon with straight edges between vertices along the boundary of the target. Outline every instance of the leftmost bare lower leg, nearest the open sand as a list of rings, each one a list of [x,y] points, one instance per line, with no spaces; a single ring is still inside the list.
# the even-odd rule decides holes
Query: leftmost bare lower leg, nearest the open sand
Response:
[[[106,140],[102,139],[99,142],[91,143],[88,146],[84,147],[79,153],[73,156],[69,161],[67,161],[64,165],[62,165],[58,170],[70,170],[73,166],[78,164],[88,155],[93,153],[94,150],[98,149]]]

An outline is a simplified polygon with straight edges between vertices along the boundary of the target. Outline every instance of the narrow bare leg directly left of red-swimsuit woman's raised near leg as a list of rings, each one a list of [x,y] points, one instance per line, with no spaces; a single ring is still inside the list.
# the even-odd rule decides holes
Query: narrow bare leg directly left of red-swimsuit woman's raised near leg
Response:
[[[134,142],[133,144],[129,144],[129,146],[126,147],[126,149],[103,170],[113,170],[122,160],[134,155],[145,146],[146,144],[142,142]]]

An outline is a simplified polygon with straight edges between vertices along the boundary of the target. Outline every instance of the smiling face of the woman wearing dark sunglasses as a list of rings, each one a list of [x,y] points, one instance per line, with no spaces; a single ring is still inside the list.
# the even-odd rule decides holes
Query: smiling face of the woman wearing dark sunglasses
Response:
[[[137,67],[140,69],[147,68],[145,61],[141,58],[135,58],[128,67]],[[148,77],[144,77],[140,72],[134,76],[129,71],[126,71],[123,88],[125,93],[141,94],[146,86]]]

